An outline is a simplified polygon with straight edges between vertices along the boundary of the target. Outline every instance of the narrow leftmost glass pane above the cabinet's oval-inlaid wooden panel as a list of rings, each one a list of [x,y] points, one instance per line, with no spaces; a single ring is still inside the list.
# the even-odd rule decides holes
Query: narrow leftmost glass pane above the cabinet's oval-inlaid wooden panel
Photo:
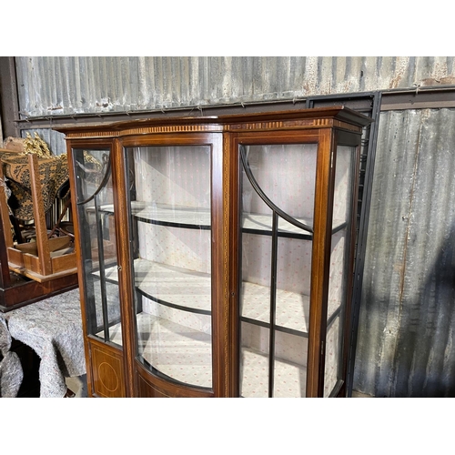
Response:
[[[73,149],[73,157],[86,327],[90,335],[121,346],[110,150]]]

